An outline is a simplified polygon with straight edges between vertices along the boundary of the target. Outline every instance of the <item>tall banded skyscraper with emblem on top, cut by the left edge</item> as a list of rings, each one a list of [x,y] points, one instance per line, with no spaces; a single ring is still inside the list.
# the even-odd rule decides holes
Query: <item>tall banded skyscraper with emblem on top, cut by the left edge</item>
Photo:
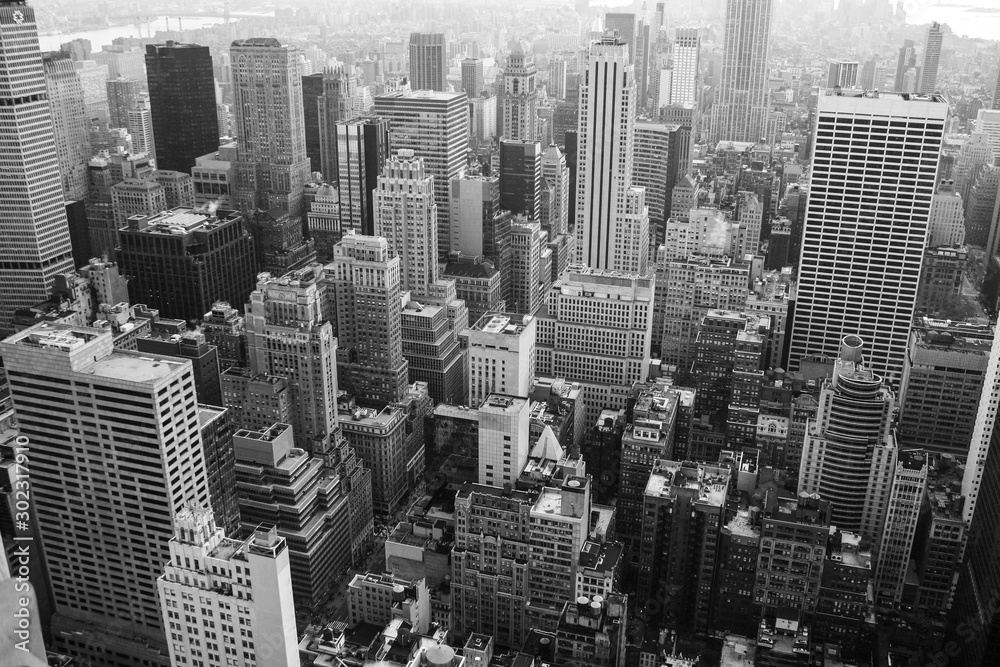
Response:
[[[0,331],[73,270],[35,10],[0,3]]]

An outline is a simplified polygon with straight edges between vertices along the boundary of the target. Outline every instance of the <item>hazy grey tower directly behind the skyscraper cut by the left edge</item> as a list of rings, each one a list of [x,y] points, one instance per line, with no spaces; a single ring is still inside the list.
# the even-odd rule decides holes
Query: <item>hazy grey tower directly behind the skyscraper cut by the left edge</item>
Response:
[[[83,86],[73,68],[73,61],[65,54],[46,53],[42,64],[52,111],[52,132],[59,158],[63,198],[67,202],[83,201],[87,197],[87,160],[91,157]]]

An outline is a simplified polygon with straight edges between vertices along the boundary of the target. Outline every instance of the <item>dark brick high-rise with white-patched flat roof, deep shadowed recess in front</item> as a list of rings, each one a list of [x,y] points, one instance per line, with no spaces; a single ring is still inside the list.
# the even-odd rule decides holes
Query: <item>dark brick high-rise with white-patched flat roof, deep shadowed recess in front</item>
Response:
[[[657,602],[659,621],[705,632],[725,517],[728,467],[657,460],[646,484],[639,554],[639,604]]]

